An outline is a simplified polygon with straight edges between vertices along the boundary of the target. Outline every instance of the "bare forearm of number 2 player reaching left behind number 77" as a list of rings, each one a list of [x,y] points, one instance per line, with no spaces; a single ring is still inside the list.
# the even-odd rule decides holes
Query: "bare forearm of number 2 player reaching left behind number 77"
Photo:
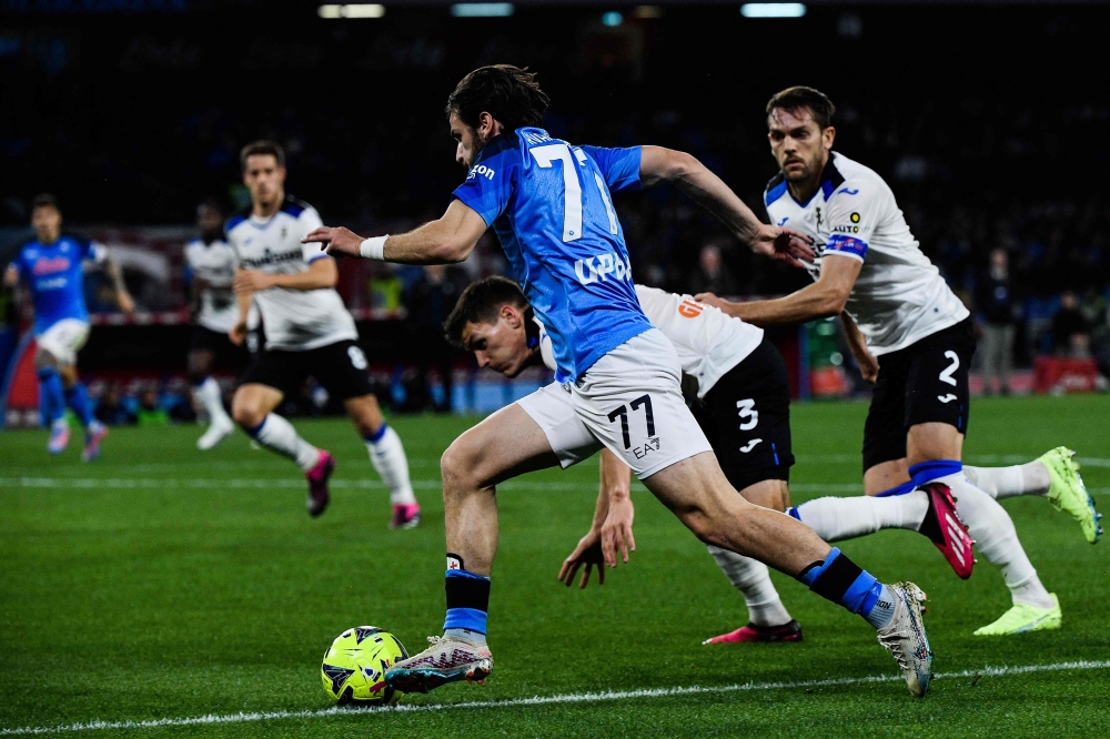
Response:
[[[817,282],[785,297],[731,303],[713,293],[700,293],[695,300],[715,305],[728,315],[757,326],[805,323],[840,315],[862,266],[862,262],[850,256],[826,254],[821,261],[821,276]]]

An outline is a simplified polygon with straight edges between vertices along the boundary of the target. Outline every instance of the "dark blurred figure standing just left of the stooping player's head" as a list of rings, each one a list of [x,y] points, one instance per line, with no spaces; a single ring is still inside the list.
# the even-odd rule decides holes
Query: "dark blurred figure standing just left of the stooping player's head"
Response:
[[[451,413],[454,350],[443,336],[443,322],[455,307],[465,287],[464,281],[465,275],[457,270],[430,264],[405,295],[412,357],[417,367],[414,383],[417,392],[410,394],[406,404],[412,411],[423,411],[432,405],[436,413]],[[438,397],[428,382],[432,367],[440,374],[443,394]]]

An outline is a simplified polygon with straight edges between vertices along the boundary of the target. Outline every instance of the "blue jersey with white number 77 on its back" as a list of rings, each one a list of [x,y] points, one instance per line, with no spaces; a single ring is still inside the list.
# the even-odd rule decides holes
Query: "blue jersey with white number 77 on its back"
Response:
[[[572,146],[517,129],[492,139],[454,192],[497,233],[552,338],[558,382],[652,327],[609,198],[639,189],[639,160],[638,146]]]

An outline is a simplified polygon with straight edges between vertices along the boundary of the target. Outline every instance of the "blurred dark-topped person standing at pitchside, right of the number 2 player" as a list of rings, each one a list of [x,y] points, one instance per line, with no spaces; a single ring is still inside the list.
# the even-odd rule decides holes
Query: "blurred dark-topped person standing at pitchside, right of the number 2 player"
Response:
[[[982,382],[990,395],[998,377],[998,392],[1010,392],[1010,370],[1013,366],[1013,292],[1010,282],[1010,259],[1006,250],[990,253],[990,266],[976,281],[976,307],[982,316]]]

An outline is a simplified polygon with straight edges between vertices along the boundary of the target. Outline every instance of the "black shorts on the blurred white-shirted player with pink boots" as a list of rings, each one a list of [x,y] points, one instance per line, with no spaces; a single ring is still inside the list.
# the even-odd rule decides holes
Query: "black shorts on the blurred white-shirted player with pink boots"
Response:
[[[366,355],[352,340],[303,352],[263,350],[243,375],[242,384],[255,383],[296,397],[309,376],[337,401],[372,395]]]

